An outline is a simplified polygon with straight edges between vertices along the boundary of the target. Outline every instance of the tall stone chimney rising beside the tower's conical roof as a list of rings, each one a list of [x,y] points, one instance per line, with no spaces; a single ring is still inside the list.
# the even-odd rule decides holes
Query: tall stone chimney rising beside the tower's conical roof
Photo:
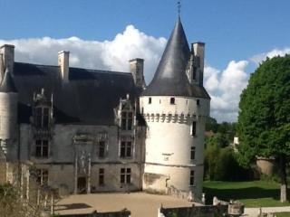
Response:
[[[205,43],[194,42],[191,44],[191,51],[194,53],[196,68],[196,80],[199,86],[203,86],[203,71],[205,66]]]

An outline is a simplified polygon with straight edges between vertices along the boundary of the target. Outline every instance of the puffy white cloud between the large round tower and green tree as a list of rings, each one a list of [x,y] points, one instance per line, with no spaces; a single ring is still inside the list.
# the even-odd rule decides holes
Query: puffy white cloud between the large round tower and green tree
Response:
[[[218,121],[236,121],[239,96],[247,86],[248,61],[230,61],[219,71],[205,67],[205,87],[211,96],[211,116]]]

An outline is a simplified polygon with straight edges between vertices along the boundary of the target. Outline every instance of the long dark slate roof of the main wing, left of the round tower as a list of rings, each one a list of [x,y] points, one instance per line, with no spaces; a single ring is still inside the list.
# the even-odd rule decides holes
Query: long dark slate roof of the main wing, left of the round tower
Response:
[[[140,95],[131,73],[70,68],[69,82],[63,82],[58,66],[14,63],[21,123],[29,123],[34,92],[53,93],[56,123],[114,125],[114,111],[129,93],[132,102]],[[50,99],[50,96],[47,96]]]

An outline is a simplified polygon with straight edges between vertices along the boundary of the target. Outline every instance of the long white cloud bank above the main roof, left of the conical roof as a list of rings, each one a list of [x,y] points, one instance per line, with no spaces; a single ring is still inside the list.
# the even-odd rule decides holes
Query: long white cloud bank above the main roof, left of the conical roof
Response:
[[[15,45],[15,61],[39,64],[57,64],[57,52],[70,51],[70,66],[110,71],[129,71],[129,60],[145,60],[146,78],[155,72],[167,40],[155,38],[128,25],[112,41],[85,41],[77,37],[53,39],[50,37],[0,40],[0,44]]]

